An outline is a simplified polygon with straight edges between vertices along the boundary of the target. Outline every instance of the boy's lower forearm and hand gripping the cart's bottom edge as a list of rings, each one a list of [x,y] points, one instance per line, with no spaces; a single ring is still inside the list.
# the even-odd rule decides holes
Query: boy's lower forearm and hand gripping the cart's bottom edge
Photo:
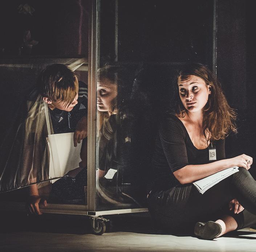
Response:
[[[28,209],[31,212],[31,214],[37,214],[37,215],[42,214],[39,208],[40,201],[41,201],[41,197],[38,193],[37,184],[29,186]],[[46,200],[44,200],[42,203],[45,207],[47,206]]]

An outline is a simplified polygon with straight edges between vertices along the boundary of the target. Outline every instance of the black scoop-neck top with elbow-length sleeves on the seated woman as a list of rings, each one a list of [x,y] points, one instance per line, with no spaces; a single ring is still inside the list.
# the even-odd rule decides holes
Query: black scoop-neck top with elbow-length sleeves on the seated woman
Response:
[[[216,159],[225,159],[225,140],[218,140],[212,144],[216,146]],[[210,162],[212,161],[209,161],[208,148],[197,149],[182,121],[171,115],[159,124],[152,159],[151,189],[167,190],[180,185],[173,172],[186,165],[201,165]]]

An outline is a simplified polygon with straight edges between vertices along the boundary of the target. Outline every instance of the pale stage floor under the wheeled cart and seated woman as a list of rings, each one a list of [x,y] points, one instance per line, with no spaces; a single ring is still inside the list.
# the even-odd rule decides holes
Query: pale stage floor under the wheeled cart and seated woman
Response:
[[[76,251],[256,251],[256,232],[237,231],[213,241],[191,236],[161,234],[149,216],[111,216],[108,231],[90,234],[84,216],[44,214],[27,218],[24,214],[1,215],[1,252],[76,252]]]

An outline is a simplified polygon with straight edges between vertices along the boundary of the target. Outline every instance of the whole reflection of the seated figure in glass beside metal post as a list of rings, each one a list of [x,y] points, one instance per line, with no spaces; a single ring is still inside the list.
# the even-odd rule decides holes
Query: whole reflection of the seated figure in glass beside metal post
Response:
[[[128,104],[133,74],[121,66],[105,66],[97,76],[97,192],[99,205],[140,206],[133,197],[133,145]],[[102,203],[102,204],[101,204]]]

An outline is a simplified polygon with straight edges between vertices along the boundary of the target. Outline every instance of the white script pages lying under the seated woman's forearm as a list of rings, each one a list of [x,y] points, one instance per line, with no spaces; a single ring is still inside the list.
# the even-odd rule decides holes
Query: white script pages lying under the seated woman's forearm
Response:
[[[198,189],[200,193],[205,193],[212,186],[216,185],[223,179],[229,177],[230,175],[239,172],[238,166],[232,166],[215,174],[212,174],[206,178],[200,179],[194,182],[194,186]]]

